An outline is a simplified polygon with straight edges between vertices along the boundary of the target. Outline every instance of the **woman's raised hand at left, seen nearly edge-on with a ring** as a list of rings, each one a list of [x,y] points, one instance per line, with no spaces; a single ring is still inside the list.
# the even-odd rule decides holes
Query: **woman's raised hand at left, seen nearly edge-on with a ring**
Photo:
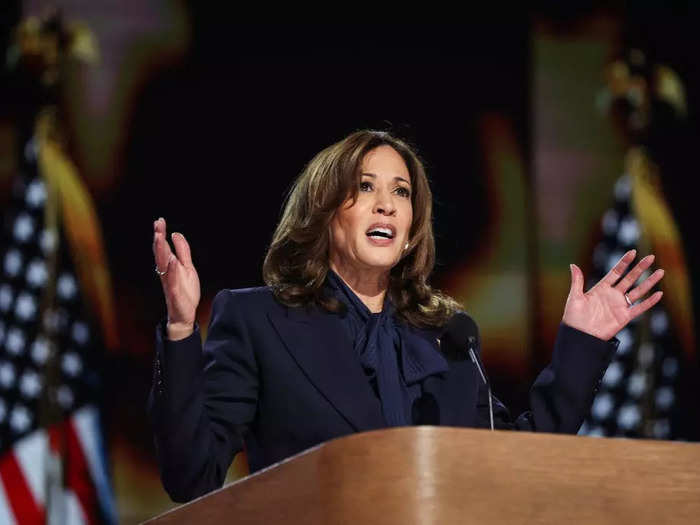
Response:
[[[190,245],[181,233],[173,233],[171,238],[175,253],[166,238],[165,219],[153,223],[153,256],[168,308],[168,339],[178,340],[194,331],[200,287]]]

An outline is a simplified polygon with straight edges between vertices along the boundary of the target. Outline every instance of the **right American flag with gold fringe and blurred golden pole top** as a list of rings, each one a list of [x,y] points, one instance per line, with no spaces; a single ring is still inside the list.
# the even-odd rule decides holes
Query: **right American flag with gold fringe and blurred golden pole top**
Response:
[[[664,64],[630,49],[606,71],[603,107],[622,125],[630,147],[625,172],[604,213],[602,236],[593,254],[594,281],[623,253],[654,253],[666,271],[663,299],[618,335],[617,355],[603,376],[580,434],[688,439],[695,403],[688,371],[696,366],[695,327],[684,242],[664,193],[663,177],[674,172],[669,142],[676,142],[687,118],[680,76]]]

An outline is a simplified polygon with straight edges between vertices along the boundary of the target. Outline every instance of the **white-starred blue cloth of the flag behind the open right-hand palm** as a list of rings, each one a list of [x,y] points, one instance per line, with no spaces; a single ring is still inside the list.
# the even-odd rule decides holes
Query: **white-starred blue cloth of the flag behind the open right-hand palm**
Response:
[[[625,174],[614,189],[614,204],[603,215],[602,239],[593,253],[591,286],[627,250],[649,250],[643,221],[633,205],[635,177]],[[641,249],[640,249],[641,248]],[[643,276],[646,277],[648,272]],[[682,352],[674,338],[664,300],[626,326],[617,353],[603,376],[579,434],[654,439],[681,437],[676,427]]]

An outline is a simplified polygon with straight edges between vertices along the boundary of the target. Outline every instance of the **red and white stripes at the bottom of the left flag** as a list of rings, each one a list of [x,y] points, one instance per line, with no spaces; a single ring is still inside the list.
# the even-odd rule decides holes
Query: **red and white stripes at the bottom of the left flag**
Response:
[[[101,471],[97,476],[103,481],[106,473],[95,418],[96,409],[84,407],[68,421],[22,438],[0,458],[0,523],[97,523],[99,500],[93,473]],[[62,472],[49,486],[47,469],[52,462]]]

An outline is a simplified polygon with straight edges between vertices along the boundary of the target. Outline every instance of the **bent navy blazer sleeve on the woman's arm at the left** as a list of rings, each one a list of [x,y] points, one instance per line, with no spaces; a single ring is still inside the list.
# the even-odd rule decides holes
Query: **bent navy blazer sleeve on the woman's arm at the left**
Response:
[[[258,367],[235,294],[212,305],[207,341],[199,329],[168,341],[156,329],[154,377],[148,408],[161,479],[173,501],[221,487],[243,449],[258,399]]]

